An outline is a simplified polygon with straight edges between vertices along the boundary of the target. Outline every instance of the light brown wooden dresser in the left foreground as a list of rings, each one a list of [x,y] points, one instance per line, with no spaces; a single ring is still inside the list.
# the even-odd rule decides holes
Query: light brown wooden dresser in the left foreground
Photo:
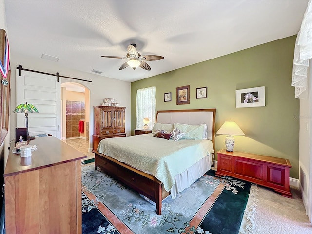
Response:
[[[81,234],[81,159],[56,137],[36,137],[32,156],[9,153],[4,170],[7,234]]]

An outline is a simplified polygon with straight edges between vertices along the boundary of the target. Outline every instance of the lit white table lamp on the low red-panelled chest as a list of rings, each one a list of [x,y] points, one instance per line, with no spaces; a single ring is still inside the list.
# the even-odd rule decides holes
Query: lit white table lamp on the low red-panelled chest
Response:
[[[238,127],[237,123],[225,121],[216,134],[227,135],[225,137],[226,151],[232,152],[235,144],[235,139],[232,135],[245,135],[244,132]]]

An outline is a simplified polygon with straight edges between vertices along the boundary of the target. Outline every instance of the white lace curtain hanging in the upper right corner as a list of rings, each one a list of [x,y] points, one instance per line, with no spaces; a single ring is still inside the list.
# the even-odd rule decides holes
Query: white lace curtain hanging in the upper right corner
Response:
[[[292,63],[292,86],[295,87],[295,97],[305,99],[307,97],[307,75],[309,59],[312,58],[312,6],[308,2],[303,16],[300,31],[298,32],[294,48]]]

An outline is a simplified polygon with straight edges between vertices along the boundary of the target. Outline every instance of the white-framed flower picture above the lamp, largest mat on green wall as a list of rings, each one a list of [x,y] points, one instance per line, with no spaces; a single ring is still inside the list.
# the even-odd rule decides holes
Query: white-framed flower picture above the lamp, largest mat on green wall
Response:
[[[236,90],[236,108],[265,106],[264,86]]]

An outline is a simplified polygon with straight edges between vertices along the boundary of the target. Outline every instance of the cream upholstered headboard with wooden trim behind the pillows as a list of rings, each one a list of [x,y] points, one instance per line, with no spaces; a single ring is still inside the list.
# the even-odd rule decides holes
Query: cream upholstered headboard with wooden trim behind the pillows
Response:
[[[215,112],[216,109],[164,110],[157,111],[156,123],[207,124],[208,139],[215,150]]]

